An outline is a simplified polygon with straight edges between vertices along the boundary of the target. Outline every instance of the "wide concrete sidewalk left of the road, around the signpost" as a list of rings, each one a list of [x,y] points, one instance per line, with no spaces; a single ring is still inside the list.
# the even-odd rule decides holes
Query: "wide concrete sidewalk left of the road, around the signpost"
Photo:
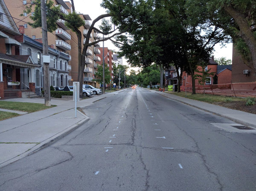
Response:
[[[84,108],[122,91],[125,90],[80,100],[77,107]],[[44,103],[44,98],[15,98],[5,101]],[[89,120],[80,111],[77,111],[75,118],[73,100],[51,99],[51,104],[57,106],[0,121],[0,167],[54,143]]]

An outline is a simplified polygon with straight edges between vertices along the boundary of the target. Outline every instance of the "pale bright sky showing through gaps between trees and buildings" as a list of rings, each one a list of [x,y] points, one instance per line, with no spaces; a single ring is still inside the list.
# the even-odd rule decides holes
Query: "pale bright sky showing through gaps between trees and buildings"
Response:
[[[74,0],[76,11],[82,14],[89,14],[92,20],[96,19],[99,15],[106,13],[105,9],[100,6],[100,3],[102,3],[102,0]],[[96,27],[100,24],[100,21],[97,22]],[[100,43],[100,46],[102,47],[102,42]],[[105,41],[104,46],[108,47],[108,49],[118,51],[118,48],[116,48],[110,40]],[[213,55],[214,58],[226,57],[227,59],[232,60],[232,43],[227,44],[226,47],[221,47],[220,44],[215,45]],[[128,65],[125,58],[123,58],[123,63]],[[133,69],[137,71],[139,68]]]

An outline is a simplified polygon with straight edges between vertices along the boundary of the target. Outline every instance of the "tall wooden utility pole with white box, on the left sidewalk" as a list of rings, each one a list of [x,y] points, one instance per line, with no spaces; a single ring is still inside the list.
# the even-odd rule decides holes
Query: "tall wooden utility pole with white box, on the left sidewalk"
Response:
[[[41,0],[41,21],[42,21],[42,37],[43,37],[43,62],[44,62],[44,104],[51,106],[51,91],[49,86],[49,63],[50,56],[48,54],[48,37],[46,23],[46,6],[45,0]]]

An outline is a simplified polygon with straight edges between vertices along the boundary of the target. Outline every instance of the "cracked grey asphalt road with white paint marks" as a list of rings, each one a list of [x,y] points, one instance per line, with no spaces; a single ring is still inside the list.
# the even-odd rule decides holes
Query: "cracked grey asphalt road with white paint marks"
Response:
[[[90,120],[0,168],[1,191],[256,191],[256,134],[143,88],[84,108]]]

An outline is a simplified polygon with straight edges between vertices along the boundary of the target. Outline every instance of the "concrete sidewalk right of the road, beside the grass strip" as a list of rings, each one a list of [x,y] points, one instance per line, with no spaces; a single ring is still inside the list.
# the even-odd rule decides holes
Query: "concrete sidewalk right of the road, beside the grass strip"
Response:
[[[221,117],[225,117],[227,119],[233,120],[236,123],[240,123],[242,125],[247,125],[247,126],[256,128],[256,115],[255,114],[250,114],[250,113],[246,113],[244,111],[238,111],[238,110],[233,110],[233,109],[229,109],[229,108],[224,108],[219,105],[213,105],[213,104],[206,103],[206,102],[192,100],[192,99],[188,99],[185,97],[180,97],[180,96],[176,96],[173,94],[165,93],[162,91],[155,91],[155,90],[150,90],[150,89],[147,89],[147,90],[154,92],[156,94],[160,94],[164,97],[170,98],[172,100],[176,100],[181,103],[191,105],[195,108],[199,108],[204,111],[208,111],[212,114],[216,114]]]

